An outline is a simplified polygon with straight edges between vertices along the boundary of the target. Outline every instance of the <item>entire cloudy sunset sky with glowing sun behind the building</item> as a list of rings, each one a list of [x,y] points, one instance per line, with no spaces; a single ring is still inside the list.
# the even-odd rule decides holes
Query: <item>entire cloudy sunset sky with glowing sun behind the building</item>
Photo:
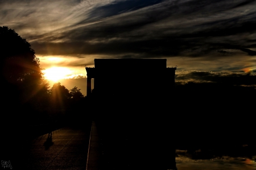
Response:
[[[256,86],[253,0],[0,0],[0,26],[30,42],[48,79],[84,95],[94,58],[167,58],[176,82]]]

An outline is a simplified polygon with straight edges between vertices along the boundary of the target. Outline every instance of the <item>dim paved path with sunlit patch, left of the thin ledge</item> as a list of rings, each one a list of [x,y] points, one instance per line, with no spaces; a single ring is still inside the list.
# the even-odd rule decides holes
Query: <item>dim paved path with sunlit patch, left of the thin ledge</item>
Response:
[[[12,145],[13,169],[86,169],[89,130],[61,128]]]

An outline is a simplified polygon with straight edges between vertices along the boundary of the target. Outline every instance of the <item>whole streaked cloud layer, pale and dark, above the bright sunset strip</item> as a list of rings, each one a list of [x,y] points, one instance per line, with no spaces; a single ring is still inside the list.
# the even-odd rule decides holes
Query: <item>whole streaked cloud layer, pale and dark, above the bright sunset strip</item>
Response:
[[[197,0],[12,1],[2,2],[1,24],[26,35],[33,45],[65,49],[57,54],[170,57],[238,49],[255,56],[255,5],[255,1]],[[47,53],[36,45],[35,49]]]

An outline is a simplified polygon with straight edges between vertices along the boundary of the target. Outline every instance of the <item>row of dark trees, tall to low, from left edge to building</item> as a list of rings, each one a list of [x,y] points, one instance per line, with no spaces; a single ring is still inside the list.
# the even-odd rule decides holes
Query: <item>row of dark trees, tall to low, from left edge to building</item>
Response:
[[[84,97],[76,86],[68,90],[55,83],[49,88],[35,51],[14,29],[0,27],[0,43],[0,78],[6,107],[30,105],[31,109],[43,109],[54,103],[55,108],[60,108],[67,105],[68,100],[78,101]],[[9,107],[12,108],[15,107]]]

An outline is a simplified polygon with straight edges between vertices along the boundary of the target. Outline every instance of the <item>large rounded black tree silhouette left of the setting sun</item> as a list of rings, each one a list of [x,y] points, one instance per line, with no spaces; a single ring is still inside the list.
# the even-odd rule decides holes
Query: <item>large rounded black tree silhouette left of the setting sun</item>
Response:
[[[43,78],[39,58],[26,39],[8,27],[0,27],[0,79],[4,106],[10,109],[36,108],[48,97],[48,82]],[[15,106],[15,107],[14,107]]]

